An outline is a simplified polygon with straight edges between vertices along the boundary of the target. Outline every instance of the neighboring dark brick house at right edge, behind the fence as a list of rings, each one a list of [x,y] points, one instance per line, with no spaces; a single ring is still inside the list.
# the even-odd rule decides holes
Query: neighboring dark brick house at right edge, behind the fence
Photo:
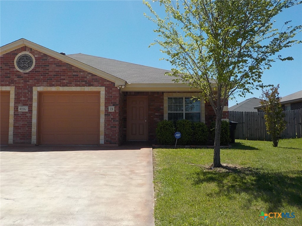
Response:
[[[280,103],[284,111],[302,108],[302,90],[282,97],[280,99]],[[255,107],[257,111],[262,111],[261,108],[262,105],[258,105]]]

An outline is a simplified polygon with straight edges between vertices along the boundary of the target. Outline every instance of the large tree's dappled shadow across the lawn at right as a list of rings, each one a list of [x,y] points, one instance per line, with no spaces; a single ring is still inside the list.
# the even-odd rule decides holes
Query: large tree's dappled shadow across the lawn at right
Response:
[[[202,168],[193,180],[194,185],[215,183],[217,193],[225,196],[247,193],[266,202],[268,212],[276,212],[284,202],[302,208],[302,171],[265,173],[259,169],[225,166],[210,170]]]

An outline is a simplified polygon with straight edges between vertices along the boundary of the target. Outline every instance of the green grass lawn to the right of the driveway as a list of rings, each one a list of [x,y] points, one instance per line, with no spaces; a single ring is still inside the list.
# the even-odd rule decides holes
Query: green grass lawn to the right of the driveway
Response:
[[[236,140],[220,156],[212,169],[213,149],[153,150],[156,226],[302,225],[302,139]]]

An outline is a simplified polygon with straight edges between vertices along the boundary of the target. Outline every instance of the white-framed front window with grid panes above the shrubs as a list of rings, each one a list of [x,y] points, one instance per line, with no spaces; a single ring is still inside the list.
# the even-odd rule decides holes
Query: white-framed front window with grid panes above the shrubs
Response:
[[[191,97],[168,97],[168,120],[188,119],[200,122],[200,100]]]

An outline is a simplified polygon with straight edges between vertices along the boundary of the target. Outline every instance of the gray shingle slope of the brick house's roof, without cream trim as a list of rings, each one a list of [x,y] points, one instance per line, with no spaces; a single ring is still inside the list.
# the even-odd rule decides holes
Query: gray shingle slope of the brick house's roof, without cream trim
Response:
[[[127,83],[174,83],[171,81],[174,77],[165,75],[168,70],[82,53],[66,56],[123,79]]]

